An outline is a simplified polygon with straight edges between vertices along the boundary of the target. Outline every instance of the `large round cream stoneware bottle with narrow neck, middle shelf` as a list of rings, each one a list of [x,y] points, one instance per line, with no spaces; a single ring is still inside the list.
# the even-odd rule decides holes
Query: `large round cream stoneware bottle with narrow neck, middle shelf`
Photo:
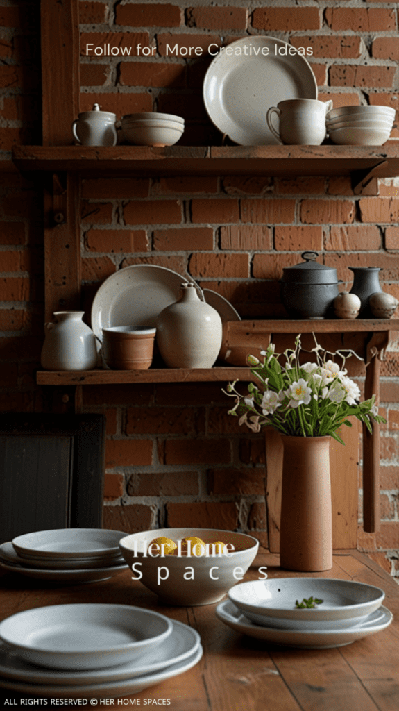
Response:
[[[222,346],[222,319],[201,301],[194,284],[182,284],[182,296],[160,312],[157,343],[168,368],[212,368]]]

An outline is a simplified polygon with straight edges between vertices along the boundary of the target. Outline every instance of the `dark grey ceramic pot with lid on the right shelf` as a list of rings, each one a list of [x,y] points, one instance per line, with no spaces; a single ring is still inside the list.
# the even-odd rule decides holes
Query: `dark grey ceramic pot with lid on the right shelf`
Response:
[[[316,262],[318,252],[302,252],[305,262],[283,269],[281,301],[292,319],[326,319],[338,296],[337,269]]]

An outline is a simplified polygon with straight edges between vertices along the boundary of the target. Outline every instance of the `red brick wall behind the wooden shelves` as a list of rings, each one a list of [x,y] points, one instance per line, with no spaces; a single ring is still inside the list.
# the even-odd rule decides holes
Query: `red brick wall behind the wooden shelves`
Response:
[[[7,2],[7,9],[11,6]],[[0,0],[0,12],[5,9]],[[248,35],[311,47],[319,98],[332,98],[335,106],[398,104],[395,3],[230,0],[209,6],[183,0],[84,0],[80,22],[82,109],[99,102],[119,117],[152,109],[180,114],[186,121],[181,144],[220,144],[202,102],[202,80],[211,60],[207,46]],[[22,31],[16,21],[15,31],[7,30],[0,14],[1,23],[5,38]],[[134,50],[129,58],[87,55],[87,43],[132,48],[140,43],[151,48],[151,55]],[[180,55],[167,55],[167,43],[183,48]],[[184,48],[190,47],[202,47],[204,53],[187,59]],[[18,64],[11,56],[4,61],[8,67]],[[14,94],[29,96],[31,90],[26,83],[18,91],[4,89],[4,97]],[[392,136],[399,138],[397,129]],[[150,263],[188,272],[202,287],[229,299],[243,317],[283,316],[277,279],[308,249],[322,252],[324,264],[337,267],[348,287],[349,266],[381,267],[383,288],[399,296],[397,184],[373,183],[359,198],[349,179],[339,177],[87,180],[82,186],[84,308],[89,312],[99,284],[117,269]],[[35,233],[36,218],[24,213],[23,229]],[[4,213],[1,219],[17,223],[15,215],[6,218]],[[0,316],[6,319],[13,308],[13,316],[31,319],[16,322],[14,335],[5,321],[3,407],[40,409],[32,340],[40,342],[43,277],[38,260],[37,268],[15,261],[16,253],[35,255],[39,247],[32,244],[28,250],[26,242],[18,241],[21,236],[13,239],[4,248],[13,266],[1,282],[9,291]],[[10,355],[16,338],[23,344],[17,359]],[[399,577],[397,355],[388,354],[382,375],[381,410],[388,419],[381,434],[383,523],[378,535],[364,535],[360,526],[359,545]],[[238,429],[226,415],[229,402],[221,386],[84,387],[84,409],[107,415],[105,525],[132,531],[165,524],[241,528],[267,544],[263,437]]]

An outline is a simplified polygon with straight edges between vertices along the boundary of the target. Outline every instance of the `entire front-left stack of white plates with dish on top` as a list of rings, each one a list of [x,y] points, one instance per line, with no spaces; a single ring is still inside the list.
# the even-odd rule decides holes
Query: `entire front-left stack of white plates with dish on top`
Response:
[[[27,695],[129,695],[201,657],[200,635],[191,627],[129,605],[39,607],[0,624],[0,687]]]

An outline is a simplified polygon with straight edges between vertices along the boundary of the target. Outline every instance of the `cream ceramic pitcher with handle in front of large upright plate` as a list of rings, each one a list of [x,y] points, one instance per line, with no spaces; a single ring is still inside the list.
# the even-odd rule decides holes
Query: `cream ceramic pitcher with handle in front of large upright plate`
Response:
[[[266,121],[273,136],[282,144],[296,146],[319,146],[326,137],[326,114],[332,109],[332,101],[316,99],[290,99],[272,106],[266,114]],[[279,130],[271,119],[277,114]]]

